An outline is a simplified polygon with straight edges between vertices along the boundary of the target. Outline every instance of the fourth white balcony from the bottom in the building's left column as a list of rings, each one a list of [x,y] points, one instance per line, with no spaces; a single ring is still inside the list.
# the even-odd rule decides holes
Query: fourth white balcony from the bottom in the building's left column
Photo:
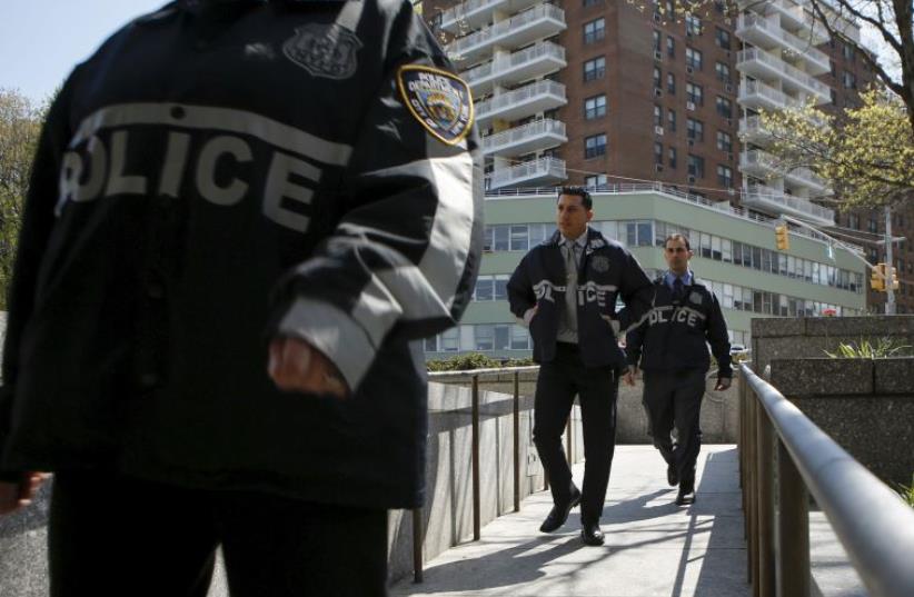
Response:
[[[464,71],[464,80],[474,97],[491,93],[496,83],[511,87],[536,77],[545,77],[565,68],[565,48],[544,41],[508,56],[497,56],[495,60]]]

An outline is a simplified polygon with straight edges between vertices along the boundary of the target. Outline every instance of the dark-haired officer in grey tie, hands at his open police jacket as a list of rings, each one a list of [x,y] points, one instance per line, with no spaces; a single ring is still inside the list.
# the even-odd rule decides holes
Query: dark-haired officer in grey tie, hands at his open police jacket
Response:
[[[582,538],[602,545],[599,528],[616,438],[616,394],[625,355],[619,330],[650,308],[650,280],[618,242],[587,226],[590,195],[580,187],[559,191],[553,237],[534,247],[508,281],[511,312],[529,326],[536,385],[534,442],[546,469],[554,507],[540,530],[565,524],[580,504]],[[626,308],[616,312],[616,298]],[[584,426],[584,488],[572,481],[562,434],[579,397]]]

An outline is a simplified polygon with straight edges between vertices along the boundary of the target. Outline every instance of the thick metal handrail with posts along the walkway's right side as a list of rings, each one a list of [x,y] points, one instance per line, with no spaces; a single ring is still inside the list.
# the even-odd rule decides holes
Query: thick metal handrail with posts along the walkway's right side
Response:
[[[809,595],[807,490],[871,595],[914,595],[914,509],[774,386],[746,365],[741,371],[739,468],[754,595]]]

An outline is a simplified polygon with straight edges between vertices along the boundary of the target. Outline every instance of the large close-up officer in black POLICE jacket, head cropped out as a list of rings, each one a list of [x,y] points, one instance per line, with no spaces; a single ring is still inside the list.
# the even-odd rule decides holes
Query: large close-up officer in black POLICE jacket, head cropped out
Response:
[[[481,248],[467,84],[407,0],[177,0],[50,109],[0,514],[53,471],[51,595],[386,594],[425,496],[419,339]],[[90,548],[91,546],[91,548]]]

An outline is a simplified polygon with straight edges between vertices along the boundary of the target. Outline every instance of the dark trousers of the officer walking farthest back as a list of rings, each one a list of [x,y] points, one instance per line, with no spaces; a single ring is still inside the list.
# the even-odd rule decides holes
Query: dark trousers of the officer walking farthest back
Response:
[[[695,464],[702,448],[699,415],[705,375],[699,369],[645,371],[644,407],[654,447],[676,468],[679,484],[694,488]],[[676,441],[670,432],[676,427]]]

